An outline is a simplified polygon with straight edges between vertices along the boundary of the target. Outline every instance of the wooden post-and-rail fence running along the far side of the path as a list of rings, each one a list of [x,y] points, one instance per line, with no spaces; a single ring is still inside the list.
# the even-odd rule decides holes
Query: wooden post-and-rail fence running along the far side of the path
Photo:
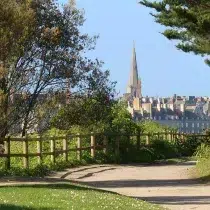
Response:
[[[97,143],[97,136],[103,137],[102,144]],[[199,134],[184,134],[184,133],[175,133],[175,132],[167,132],[167,133],[143,133],[143,134],[87,134],[87,135],[67,135],[67,136],[60,136],[60,137],[36,137],[36,138],[17,138],[17,137],[7,137],[4,139],[4,148],[5,152],[0,154],[0,158],[6,158],[5,166],[7,169],[11,166],[11,157],[21,157],[23,159],[23,167],[29,168],[29,158],[30,157],[37,157],[38,164],[43,162],[43,156],[50,156],[51,162],[56,162],[57,155],[63,155],[65,161],[68,161],[68,155],[70,152],[77,153],[77,160],[81,160],[82,151],[89,150],[91,157],[94,158],[97,150],[103,150],[105,154],[107,154],[108,150],[108,138],[114,137],[115,138],[115,156],[119,155],[119,148],[120,148],[120,138],[127,137],[128,142],[131,138],[136,138],[136,147],[139,149],[142,145],[149,145],[151,139],[162,139],[167,141],[176,141],[177,139],[185,140],[186,138],[193,137],[193,138],[202,138],[205,141],[209,141],[210,136],[207,135],[199,135]],[[68,143],[73,139],[77,138],[77,146],[75,148],[68,148]],[[82,138],[89,138],[90,139],[90,146],[82,147]],[[43,151],[42,146],[43,142],[48,141],[50,142],[50,151]],[[56,141],[61,141],[62,149],[56,148]],[[23,149],[21,154],[11,153],[11,143],[12,142],[22,142]],[[35,153],[31,153],[29,151],[29,142],[36,142],[36,151]]]

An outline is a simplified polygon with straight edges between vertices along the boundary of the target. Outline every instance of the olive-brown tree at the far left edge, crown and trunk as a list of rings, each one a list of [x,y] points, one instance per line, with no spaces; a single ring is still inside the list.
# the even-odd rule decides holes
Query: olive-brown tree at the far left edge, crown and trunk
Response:
[[[0,1],[0,136],[4,137],[18,118],[21,104],[12,100],[24,84],[17,72],[17,58],[24,54],[25,45],[33,33],[34,12],[30,0]]]

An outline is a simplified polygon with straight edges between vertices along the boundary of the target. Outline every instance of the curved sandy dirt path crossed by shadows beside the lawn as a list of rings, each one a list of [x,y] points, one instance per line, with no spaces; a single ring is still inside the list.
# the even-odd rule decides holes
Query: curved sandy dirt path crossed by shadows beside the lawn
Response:
[[[176,165],[98,165],[59,178],[160,204],[171,210],[210,210],[210,185],[190,178],[194,162]]]

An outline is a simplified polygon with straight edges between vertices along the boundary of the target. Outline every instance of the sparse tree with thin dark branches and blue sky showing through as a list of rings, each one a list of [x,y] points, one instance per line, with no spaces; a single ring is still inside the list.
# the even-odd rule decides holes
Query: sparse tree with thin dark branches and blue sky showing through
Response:
[[[40,94],[65,89],[67,80],[70,87],[75,88],[96,65],[83,56],[93,48],[95,38],[80,33],[84,22],[80,11],[69,5],[61,10],[54,1],[33,3],[35,33],[19,62],[19,68],[27,72],[27,86],[22,89],[27,96],[23,136]]]

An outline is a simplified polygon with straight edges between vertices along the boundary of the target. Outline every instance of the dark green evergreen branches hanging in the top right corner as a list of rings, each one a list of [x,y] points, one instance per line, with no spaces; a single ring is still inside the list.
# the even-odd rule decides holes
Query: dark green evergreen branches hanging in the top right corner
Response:
[[[177,48],[184,52],[207,56],[210,66],[210,1],[209,0],[142,0],[140,3],[153,8],[155,21],[169,27],[163,35],[179,40]]]

